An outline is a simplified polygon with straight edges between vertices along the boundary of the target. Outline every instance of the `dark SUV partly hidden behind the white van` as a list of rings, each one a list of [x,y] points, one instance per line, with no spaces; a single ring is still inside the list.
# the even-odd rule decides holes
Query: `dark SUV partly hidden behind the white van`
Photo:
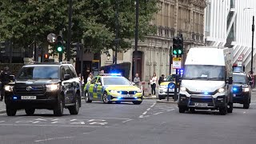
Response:
[[[244,109],[249,109],[251,78],[245,73],[233,73],[233,80],[233,102],[243,104]]]

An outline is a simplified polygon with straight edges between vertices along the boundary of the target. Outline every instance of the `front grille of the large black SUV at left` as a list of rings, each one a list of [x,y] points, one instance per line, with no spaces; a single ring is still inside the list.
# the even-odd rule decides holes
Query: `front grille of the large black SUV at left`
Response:
[[[29,86],[14,86],[14,94],[18,95],[34,95],[34,94],[45,94],[46,93],[46,86],[31,86],[31,90],[27,90]]]

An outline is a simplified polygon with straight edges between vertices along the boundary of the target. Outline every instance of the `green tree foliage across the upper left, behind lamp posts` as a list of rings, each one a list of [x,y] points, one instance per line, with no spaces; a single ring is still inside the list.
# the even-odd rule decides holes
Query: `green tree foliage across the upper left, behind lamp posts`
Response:
[[[67,0],[2,0],[0,2],[0,39],[11,39],[21,46],[31,42],[46,43],[50,33],[63,30],[67,39]],[[73,0],[72,42],[85,40],[85,47],[94,52],[114,49],[116,10],[119,3],[118,51],[131,48],[135,31],[134,0]],[[140,0],[139,38],[155,34],[150,25],[158,12],[158,0]]]

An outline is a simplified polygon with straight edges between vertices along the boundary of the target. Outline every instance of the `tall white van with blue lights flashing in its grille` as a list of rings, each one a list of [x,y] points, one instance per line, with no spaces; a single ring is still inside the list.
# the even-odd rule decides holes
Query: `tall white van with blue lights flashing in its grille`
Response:
[[[233,49],[191,48],[178,94],[179,112],[219,110],[222,115],[232,113],[232,64]]]

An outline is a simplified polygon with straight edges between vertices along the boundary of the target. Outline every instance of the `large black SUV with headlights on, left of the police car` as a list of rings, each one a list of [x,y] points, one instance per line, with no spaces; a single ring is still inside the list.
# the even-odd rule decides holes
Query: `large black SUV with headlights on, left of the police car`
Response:
[[[62,116],[64,107],[70,114],[78,114],[82,86],[69,62],[31,63],[23,66],[15,79],[10,79],[14,82],[5,86],[8,116],[21,109],[27,115],[33,115],[35,109],[48,109]]]

